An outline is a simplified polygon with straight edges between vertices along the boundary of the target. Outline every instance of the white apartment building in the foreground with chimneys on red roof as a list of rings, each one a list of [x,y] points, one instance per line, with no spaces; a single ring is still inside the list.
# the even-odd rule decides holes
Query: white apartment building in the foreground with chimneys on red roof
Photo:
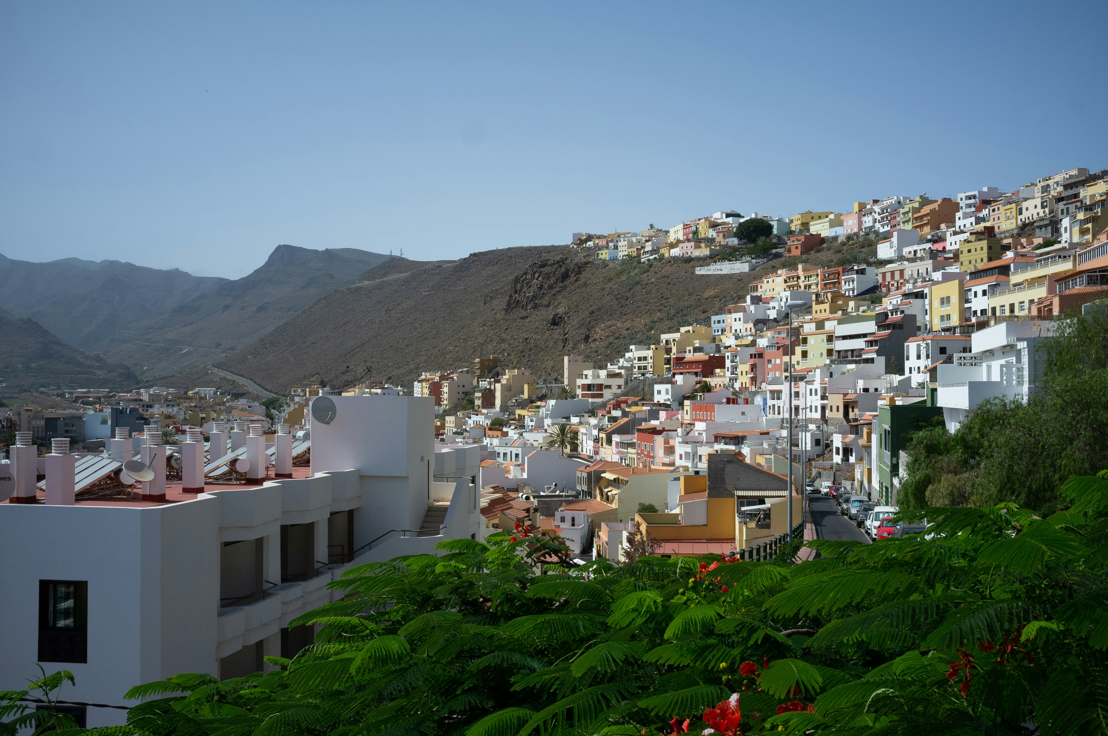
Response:
[[[66,699],[122,706],[178,673],[271,669],[263,656],[311,642],[288,623],[341,597],[327,584],[343,572],[483,525],[480,446],[435,448],[430,398],[320,399],[329,423],[312,422],[311,466],[293,478],[74,499],[74,456],[48,456],[45,502],[0,503],[0,555],[19,561],[0,570],[0,689],[22,688],[38,662],[74,674]],[[125,714],[89,707],[86,724]]]

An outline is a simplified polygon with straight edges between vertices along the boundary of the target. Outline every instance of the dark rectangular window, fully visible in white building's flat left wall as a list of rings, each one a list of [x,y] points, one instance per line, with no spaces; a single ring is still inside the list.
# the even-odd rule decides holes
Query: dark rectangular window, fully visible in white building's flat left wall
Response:
[[[39,662],[89,661],[89,583],[39,581]]]

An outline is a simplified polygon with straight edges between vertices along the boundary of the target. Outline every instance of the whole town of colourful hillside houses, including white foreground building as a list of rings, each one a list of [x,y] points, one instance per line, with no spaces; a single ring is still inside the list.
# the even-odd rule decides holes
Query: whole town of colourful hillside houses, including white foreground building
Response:
[[[89,581],[138,611],[141,574],[90,565],[80,551],[95,548],[143,558],[163,586],[158,610],[122,631],[35,636],[33,605],[8,610],[9,627],[27,630],[16,637],[25,651],[8,655],[111,661],[115,674],[80,691],[110,703],[155,651],[162,672],[220,678],[295,656],[310,637],[289,622],[339,600],[330,583],[448,540],[543,538],[575,565],[767,560],[814,539],[821,493],[855,540],[910,532],[888,520],[911,432],[954,431],[993,397],[1026,399],[1043,376],[1038,344],[1064,315],[1102,308],[1105,176],[1076,168],[1012,193],[575,233],[573,247],[601,260],[761,270],[704,324],[604,360],[564,355],[560,380],[479,355],[403,387],[367,376],[260,396],[240,378],[239,392],[86,389],[65,392],[70,408],[0,409],[12,532],[0,550],[13,556],[48,528],[64,540],[6,585]],[[850,263],[807,259],[860,243]],[[147,549],[151,534],[161,546]]]

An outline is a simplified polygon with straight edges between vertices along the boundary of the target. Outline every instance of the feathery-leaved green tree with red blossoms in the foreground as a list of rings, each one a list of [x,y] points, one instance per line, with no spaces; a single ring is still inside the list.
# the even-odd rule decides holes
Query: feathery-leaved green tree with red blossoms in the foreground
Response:
[[[927,539],[817,540],[799,563],[578,566],[521,527],[442,542],[331,583],[277,672],[135,687],[112,733],[1102,735],[1106,476],[1045,519],[932,508]]]

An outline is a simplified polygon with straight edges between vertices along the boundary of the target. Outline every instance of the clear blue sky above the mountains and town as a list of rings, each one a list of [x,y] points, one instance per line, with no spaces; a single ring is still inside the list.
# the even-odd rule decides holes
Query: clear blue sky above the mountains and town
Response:
[[[0,3],[0,253],[238,277],[1108,165],[1100,2]]]

